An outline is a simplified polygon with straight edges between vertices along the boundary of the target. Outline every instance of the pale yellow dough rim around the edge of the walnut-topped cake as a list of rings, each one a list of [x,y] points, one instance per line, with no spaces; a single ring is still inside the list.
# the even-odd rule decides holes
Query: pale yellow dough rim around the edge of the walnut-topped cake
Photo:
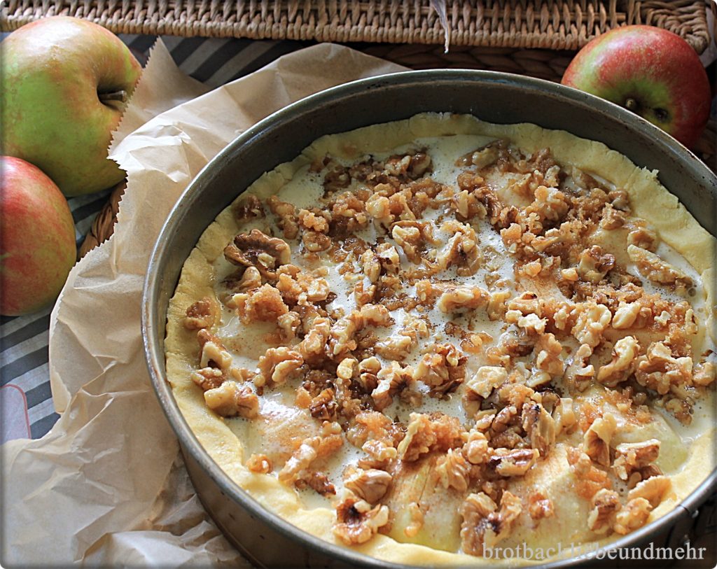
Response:
[[[454,134],[508,138],[526,153],[547,146],[556,161],[577,166],[584,171],[602,176],[615,186],[625,188],[630,194],[634,214],[646,219],[660,238],[682,254],[701,275],[707,295],[707,306],[711,307],[710,320],[702,322],[701,325],[714,335],[715,278],[712,264],[716,240],[695,221],[672,193],[660,185],[656,171],[638,168],[625,156],[610,150],[604,144],[577,138],[564,131],[545,130],[530,124],[494,125],[467,115],[422,114],[409,120],[374,125],[349,133],[320,138],[291,163],[282,164],[262,176],[252,184],[250,191],[260,197],[269,196],[290,180],[298,168],[310,163],[314,158],[325,156],[326,153],[342,158],[353,158],[366,153],[386,152],[410,143],[416,138]],[[242,441],[232,433],[224,419],[206,408],[201,389],[191,381],[190,373],[196,367],[199,348],[196,344],[196,332],[186,330],[182,325],[184,315],[187,307],[193,302],[213,294],[212,262],[222,255],[224,246],[238,231],[239,227],[234,221],[234,216],[229,208],[225,209],[204,231],[196,248],[184,264],[179,285],[168,310],[167,379],[174,390],[179,408],[197,439],[234,482],[268,510],[276,512],[285,520],[328,542],[346,547],[331,531],[335,517],[333,510],[327,508],[305,510],[293,489],[283,486],[275,477],[253,474],[244,467],[244,460],[247,457],[243,456]],[[672,477],[675,492],[673,497],[665,499],[652,512],[650,521],[672,510],[680,500],[706,479],[714,468],[711,459],[713,444],[714,429],[700,433],[690,444],[683,468]],[[561,527],[564,535],[555,535],[554,532],[561,531]],[[564,537],[566,543],[571,541],[569,528],[565,525],[552,525],[550,528],[553,533],[547,536],[548,542],[557,542],[561,537]],[[516,537],[518,541],[520,537],[518,534]],[[536,542],[544,541],[543,536],[540,535],[523,537]],[[384,560],[411,564],[503,563],[495,559],[483,560],[469,555],[434,550],[422,545],[399,543],[381,534],[364,545],[353,547],[353,550]],[[506,560],[505,563],[515,565],[516,560]]]

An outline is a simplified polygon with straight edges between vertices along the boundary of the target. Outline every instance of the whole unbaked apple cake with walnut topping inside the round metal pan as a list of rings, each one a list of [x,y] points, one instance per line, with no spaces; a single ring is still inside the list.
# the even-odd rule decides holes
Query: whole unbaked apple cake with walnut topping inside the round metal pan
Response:
[[[714,467],[714,247],[656,172],[564,131],[328,135],[202,234],[167,377],[229,477],[325,540],[605,543]]]

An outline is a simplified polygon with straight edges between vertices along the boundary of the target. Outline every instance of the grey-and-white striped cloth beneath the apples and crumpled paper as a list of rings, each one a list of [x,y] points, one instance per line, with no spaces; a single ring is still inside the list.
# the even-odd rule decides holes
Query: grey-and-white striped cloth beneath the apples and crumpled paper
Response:
[[[6,34],[1,34],[5,36]],[[142,63],[156,36],[123,35]],[[250,39],[162,37],[179,68],[209,87],[247,75],[306,42]],[[69,200],[77,230],[77,247],[105,204],[108,191]],[[9,439],[37,439],[58,419],[52,406],[47,363],[51,308],[28,316],[0,317],[0,444]]]

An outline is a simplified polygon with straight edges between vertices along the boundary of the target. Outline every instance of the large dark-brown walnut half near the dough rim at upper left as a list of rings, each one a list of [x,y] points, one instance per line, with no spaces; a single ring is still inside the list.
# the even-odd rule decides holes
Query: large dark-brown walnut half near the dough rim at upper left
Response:
[[[234,236],[224,248],[224,257],[233,264],[255,267],[263,277],[274,279],[275,270],[291,261],[291,249],[283,239],[252,229],[249,234]]]

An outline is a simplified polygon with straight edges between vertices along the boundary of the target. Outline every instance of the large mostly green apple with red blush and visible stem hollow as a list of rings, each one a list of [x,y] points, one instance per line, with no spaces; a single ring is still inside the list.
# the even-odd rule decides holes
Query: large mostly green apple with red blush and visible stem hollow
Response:
[[[122,181],[108,159],[141,66],[107,29],[69,16],[34,21],[1,45],[3,153],[33,163],[65,196]]]

